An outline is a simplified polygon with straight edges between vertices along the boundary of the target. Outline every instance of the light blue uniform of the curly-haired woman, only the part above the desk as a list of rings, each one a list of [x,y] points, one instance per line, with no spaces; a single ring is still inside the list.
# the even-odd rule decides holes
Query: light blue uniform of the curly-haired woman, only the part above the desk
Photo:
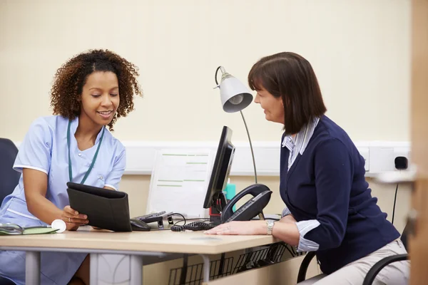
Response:
[[[77,126],[78,118],[71,122],[70,156],[73,167],[73,182],[80,183],[91,165],[102,132],[98,133],[93,147],[81,151],[78,149],[74,137]],[[23,168],[31,168],[48,175],[46,198],[59,209],[63,209],[69,204],[66,192],[66,183],[69,180],[67,127],[68,118],[59,115],[36,119],[31,124],[29,132],[26,133],[14,163],[14,170],[19,172],[22,172]],[[119,140],[113,138],[113,135],[106,129],[98,157],[84,184],[96,187],[108,186],[118,190],[125,166],[125,147]],[[2,219],[4,214],[8,216],[12,214],[18,220],[9,222],[16,222],[24,227],[44,224],[27,209],[22,175],[14,192],[5,197],[1,204],[0,222],[6,222]]]

